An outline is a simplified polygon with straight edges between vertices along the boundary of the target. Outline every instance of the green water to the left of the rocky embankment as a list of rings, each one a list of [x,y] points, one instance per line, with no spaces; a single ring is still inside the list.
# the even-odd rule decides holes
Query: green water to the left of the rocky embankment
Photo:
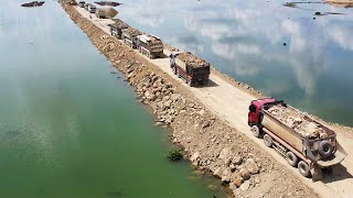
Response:
[[[224,196],[57,2],[1,1],[0,54],[0,197]]]

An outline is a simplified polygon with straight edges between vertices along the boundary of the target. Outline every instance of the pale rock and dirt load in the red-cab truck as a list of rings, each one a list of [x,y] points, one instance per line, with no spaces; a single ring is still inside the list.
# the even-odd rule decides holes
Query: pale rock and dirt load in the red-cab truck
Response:
[[[308,120],[306,114],[299,110],[277,105],[272,106],[268,112],[308,139],[314,140],[328,136],[328,133],[321,125]]]

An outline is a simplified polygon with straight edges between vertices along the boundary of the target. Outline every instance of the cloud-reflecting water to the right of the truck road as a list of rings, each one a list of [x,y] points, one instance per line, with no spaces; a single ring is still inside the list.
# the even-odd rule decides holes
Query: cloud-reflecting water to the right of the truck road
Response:
[[[133,26],[267,96],[353,127],[353,9],[264,0],[122,2],[118,16]]]

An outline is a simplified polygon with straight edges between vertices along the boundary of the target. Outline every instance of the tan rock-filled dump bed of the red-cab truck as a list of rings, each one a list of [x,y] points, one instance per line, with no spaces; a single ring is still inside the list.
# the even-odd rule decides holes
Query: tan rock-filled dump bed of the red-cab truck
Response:
[[[344,160],[346,153],[336,142],[335,132],[307,113],[281,103],[264,106],[263,113],[266,129],[319,166],[329,167]],[[323,144],[330,150],[325,155]]]

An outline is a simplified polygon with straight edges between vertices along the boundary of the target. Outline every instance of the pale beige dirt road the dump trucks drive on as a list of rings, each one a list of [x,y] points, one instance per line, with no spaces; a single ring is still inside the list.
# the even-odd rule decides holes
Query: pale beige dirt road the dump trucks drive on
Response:
[[[94,24],[96,24],[105,32],[109,33],[107,24],[111,23],[113,21],[106,19],[99,20],[82,8],[76,7],[76,9],[83,16],[90,19]],[[137,51],[136,53],[139,54]],[[164,53],[165,55],[169,55],[168,51],[164,51]],[[302,177],[299,174],[298,169],[289,166],[286,160],[282,158],[274,150],[266,147],[263,143],[263,140],[253,136],[252,132],[249,131],[249,127],[247,125],[247,112],[249,102],[255,98],[248,92],[231,85],[215,74],[211,74],[210,85],[207,87],[191,88],[172,74],[172,70],[169,66],[169,58],[149,59],[141,54],[139,55],[153,63],[161,70],[169,74],[174,79],[179,80],[180,86],[183,86],[185,89],[190,89],[206,108],[228,122],[229,125],[234,127],[242,133],[246,134],[250,140],[256,142],[264,151],[268,152],[271,156],[277,158],[278,162],[284,164],[288,168],[288,170],[293,172],[299,179],[302,179],[304,184],[310,186],[321,197],[353,197],[353,158],[351,155],[349,155],[342,163],[343,166],[339,176],[333,177],[330,174],[324,174],[324,178],[322,182],[313,183],[311,179]],[[347,153],[353,152],[352,139],[347,139],[343,133],[341,134],[339,132],[338,140]]]

